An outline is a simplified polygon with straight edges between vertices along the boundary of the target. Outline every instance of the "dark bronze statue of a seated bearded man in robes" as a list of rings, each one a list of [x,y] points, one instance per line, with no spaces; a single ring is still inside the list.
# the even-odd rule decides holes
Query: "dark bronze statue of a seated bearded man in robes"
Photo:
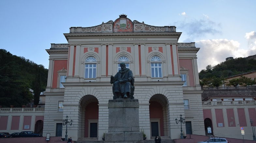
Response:
[[[134,99],[134,78],[132,71],[126,68],[125,63],[120,63],[121,69],[116,75],[110,78],[110,83],[113,84],[113,99],[130,98]]]

